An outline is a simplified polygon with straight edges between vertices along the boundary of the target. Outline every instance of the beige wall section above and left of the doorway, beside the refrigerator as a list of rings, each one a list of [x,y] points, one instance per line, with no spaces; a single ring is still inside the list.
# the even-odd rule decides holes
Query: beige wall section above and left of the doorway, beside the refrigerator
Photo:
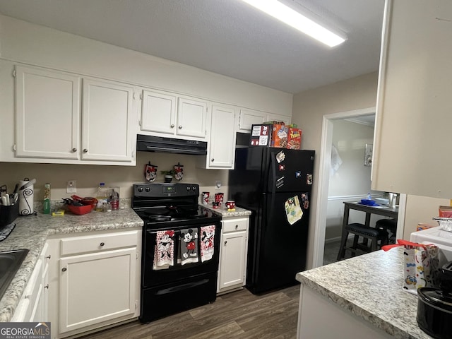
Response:
[[[323,115],[375,107],[377,81],[378,74],[375,72],[294,95],[292,121],[303,131],[302,148],[316,151],[314,186],[310,205],[311,222],[307,258],[309,268],[312,267],[314,251],[316,199],[319,187],[316,178],[319,178]]]

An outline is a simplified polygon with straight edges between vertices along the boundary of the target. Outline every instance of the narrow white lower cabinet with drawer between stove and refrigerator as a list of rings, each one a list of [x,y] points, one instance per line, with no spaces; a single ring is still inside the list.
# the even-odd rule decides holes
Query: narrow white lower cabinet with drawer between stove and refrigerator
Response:
[[[249,218],[223,218],[218,293],[245,285]]]

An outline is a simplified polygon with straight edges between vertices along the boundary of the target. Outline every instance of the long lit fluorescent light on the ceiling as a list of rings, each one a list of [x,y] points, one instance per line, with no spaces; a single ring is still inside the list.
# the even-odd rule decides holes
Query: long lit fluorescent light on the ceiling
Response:
[[[281,4],[277,0],[242,0],[246,4],[250,4],[261,11],[267,13],[273,18],[283,21],[287,25],[296,28],[300,32],[314,37],[314,39],[327,44],[329,47],[337,46],[345,41],[344,37],[327,30],[313,20],[303,16],[302,14],[294,11],[292,8]]]

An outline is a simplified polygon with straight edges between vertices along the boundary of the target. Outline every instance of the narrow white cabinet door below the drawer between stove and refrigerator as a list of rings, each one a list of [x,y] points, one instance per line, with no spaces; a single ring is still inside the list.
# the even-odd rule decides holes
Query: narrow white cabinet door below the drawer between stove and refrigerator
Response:
[[[245,261],[246,231],[222,234],[219,290],[244,284]]]

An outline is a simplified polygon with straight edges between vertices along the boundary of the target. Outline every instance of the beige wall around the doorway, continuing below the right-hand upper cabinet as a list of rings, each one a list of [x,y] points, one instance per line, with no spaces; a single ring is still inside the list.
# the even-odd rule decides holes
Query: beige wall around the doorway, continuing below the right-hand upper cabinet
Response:
[[[302,148],[316,150],[314,186],[311,201],[311,222],[309,225],[308,268],[312,267],[314,255],[314,227],[316,199],[319,189],[319,151],[323,115],[347,112],[355,109],[375,107],[378,74],[369,73],[347,81],[333,83],[321,88],[298,93],[294,96],[292,121],[303,130]],[[437,225],[432,217],[438,215],[438,206],[448,206],[450,201],[424,196],[408,196],[405,210],[403,239],[410,239],[420,222]]]

